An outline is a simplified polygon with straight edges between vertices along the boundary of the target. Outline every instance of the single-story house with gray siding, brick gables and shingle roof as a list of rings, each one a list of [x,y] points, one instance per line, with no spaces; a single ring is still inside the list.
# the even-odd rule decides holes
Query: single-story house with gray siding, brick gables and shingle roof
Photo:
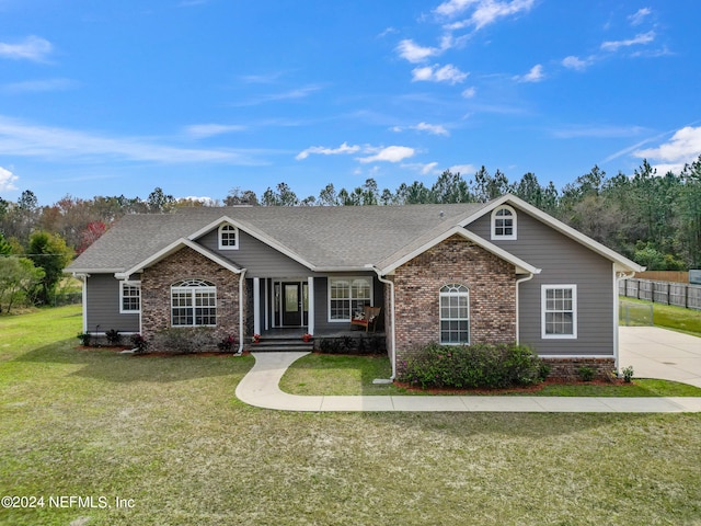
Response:
[[[618,279],[643,268],[513,195],[489,203],[129,215],[71,263],[83,330],[321,338],[380,307],[393,370],[428,342],[618,368]],[[300,332],[300,334],[301,334]]]

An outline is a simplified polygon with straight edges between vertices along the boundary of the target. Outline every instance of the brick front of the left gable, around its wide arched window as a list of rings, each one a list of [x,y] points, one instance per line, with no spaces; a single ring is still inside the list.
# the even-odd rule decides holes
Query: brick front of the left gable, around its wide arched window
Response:
[[[146,268],[141,275],[141,330],[147,340],[171,327],[171,286],[204,279],[217,287],[216,339],[239,336],[239,275],[184,247]],[[245,317],[244,317],[245,318]]]

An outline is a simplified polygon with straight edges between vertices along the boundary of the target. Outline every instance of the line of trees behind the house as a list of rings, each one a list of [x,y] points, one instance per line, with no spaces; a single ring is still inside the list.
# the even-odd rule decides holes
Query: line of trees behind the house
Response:
[[[287,183],[262,195],[232,188],[221,201],[176,199],[157,187],[146,199],[66,195],[39,206],[26,190],[16,202],[0,197],[0,310],[12,301],[48,302],[60,271],[114,221],[127,214],[168,214],[186,206],[397,206],[425,203],[484,203],[512,193],[650,270],[701,267],[701,156],[679,173],[656,173],[645,160],[632,175],[609,176],[595,165],[558,190],[528,172],[518,181],[501,170],[473,175],[444,171],[427,186],[402,183],[394,191],[368,179],[355,188],[324,186],[299,197]],[[58,268],[58,271],[57,271]],[[23,279],[16,276],[23,275]],[[14,277],[9,277],[14,276]],[[21,285],[18,285],[18,284]]]

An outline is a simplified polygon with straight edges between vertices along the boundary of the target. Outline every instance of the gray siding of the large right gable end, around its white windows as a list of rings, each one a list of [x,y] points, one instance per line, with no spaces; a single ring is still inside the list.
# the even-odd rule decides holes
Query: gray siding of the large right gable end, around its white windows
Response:
[[[612,263],[538,219],[516,209],[514,241],[491,240],[491,215],[467,228],[497,247],[542,270],[519,285],[521,343],[541,355],[613,356]],[[577,286],[577,339],[541,338],[541,285]]]

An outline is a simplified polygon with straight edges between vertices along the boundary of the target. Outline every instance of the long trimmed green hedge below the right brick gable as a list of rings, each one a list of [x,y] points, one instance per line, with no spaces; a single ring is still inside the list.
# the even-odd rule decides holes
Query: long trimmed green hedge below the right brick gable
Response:
[[[422,388],[503,389],[538,384],[549,373],[550,367],[525,345],[432,343],[400,364],[398,379]]]

